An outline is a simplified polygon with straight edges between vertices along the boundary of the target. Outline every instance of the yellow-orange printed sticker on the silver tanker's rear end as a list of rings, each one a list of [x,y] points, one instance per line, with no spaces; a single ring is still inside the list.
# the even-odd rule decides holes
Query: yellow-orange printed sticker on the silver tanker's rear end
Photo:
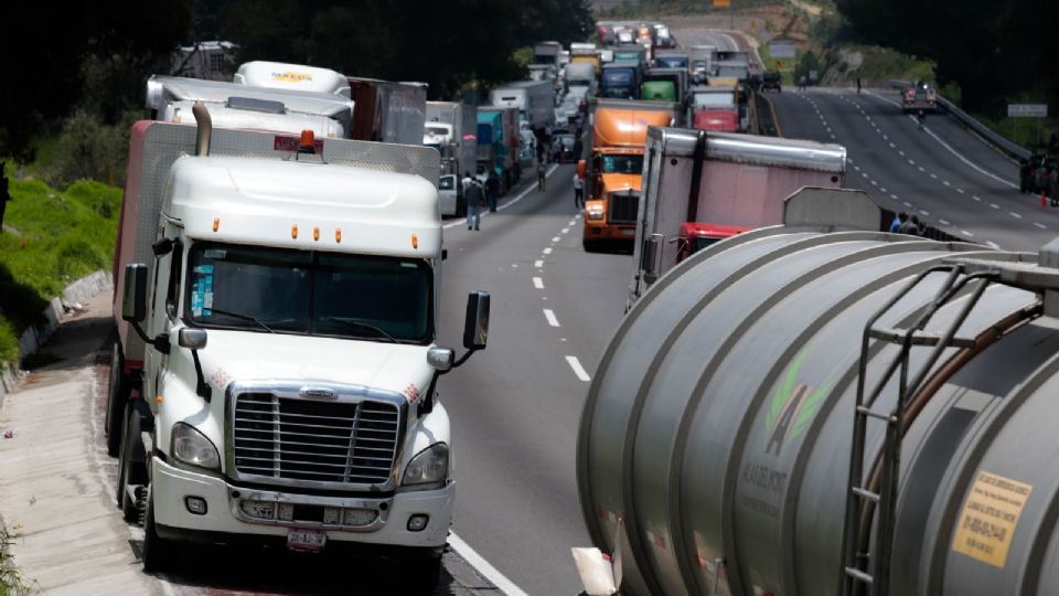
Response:
[[[1004,568],[1007,550],[1033,485],[978,472],[963,502],[952,550]]]

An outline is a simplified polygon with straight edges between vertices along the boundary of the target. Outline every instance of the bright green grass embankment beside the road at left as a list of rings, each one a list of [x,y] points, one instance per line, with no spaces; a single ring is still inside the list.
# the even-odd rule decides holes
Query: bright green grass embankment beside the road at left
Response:
[[[14,180],[12,171],[8,177],[12,200],[0,234],[0,362],[19,358],[19,337],[67,284],[110,268],[121,209],[121,190],[99,182],[78,181],[57,191],[38,180]]]

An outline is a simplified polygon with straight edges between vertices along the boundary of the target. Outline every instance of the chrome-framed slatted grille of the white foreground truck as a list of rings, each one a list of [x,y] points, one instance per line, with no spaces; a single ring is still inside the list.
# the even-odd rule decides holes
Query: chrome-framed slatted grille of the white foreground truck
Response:
[[[344,489],[393,485],[403,409],[396,401],[285,393],[233,394],[228,462],[237,478]]]

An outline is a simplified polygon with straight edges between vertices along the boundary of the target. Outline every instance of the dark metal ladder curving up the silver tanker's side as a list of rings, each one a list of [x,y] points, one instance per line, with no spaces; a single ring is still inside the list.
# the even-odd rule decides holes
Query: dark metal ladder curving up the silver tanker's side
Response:
[[[930,305],[918,313],[912,324],[907,329],[875,327],[879,318],[894,308],[901,298],[906,297],[928,276],[937,273],[946,273],[945,281],[941,285]],[[973,339],[958,338],[955,333],[988,287],[990,281],[995,279],[996,276],[996,270],[969,273],[966,266],[960,263],[931,267],[920,273],[903,289],[898,291],[864,327],[857,376],[857,405],[854,413],[853,445],[849,457],[846,515],[842,536],[843,596],[856,596],[865,593],[871,596],[888,596],[889,594],[890,556],[894,545],[898,472],[900,470],[901,439],[903,438],[902,421],[905,419],[906,407],[909,398],[920,391],[927,381],[927,375],[946,348],[970,348],[975,344]],[[924,332],[923,329],[934,313],[952,300],[967,284],[975,280],[978,283],[971,291],[970,299],[945,332],[941,334]],[[869,358],[868,344],[873,339],[899,344],[901,349],[868,393],[865,391],[865,374]],[[923,366],[909,381],[909,354],[912,348],[932,348],[933,350]],[[899,374],[897,404],[889,411],[874,408],[879,395],[895,373]],[[866,479],[864,478],[864,455],[869,418],[886,423],[886,437],[880,460],[876,462],[871,470],[873,473]],[[880,466],[881,470],[879,470]],[[879,473],[880,471],[881,473]],[[873,546],[871,518],[876,508],[878,509],[878,520]]]

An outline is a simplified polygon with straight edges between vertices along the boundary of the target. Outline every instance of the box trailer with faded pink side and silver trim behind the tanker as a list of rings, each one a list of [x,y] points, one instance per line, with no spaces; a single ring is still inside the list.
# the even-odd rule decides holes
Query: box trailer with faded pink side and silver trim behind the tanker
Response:
[[[783,222],[803,187],[842,188],[846,149],[683,128],[648,129],[629,305],[691,254]]]

